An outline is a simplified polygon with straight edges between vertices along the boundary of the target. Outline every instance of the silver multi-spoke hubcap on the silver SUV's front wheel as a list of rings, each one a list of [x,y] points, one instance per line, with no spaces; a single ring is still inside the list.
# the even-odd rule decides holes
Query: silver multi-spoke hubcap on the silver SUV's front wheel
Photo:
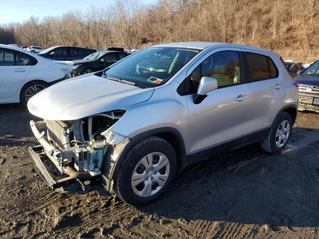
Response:
[[[155,195],[165,185],[169,176],[169,161],[160,152],[149,153],[136,165],[131,185],[134,193],[140,197]]]

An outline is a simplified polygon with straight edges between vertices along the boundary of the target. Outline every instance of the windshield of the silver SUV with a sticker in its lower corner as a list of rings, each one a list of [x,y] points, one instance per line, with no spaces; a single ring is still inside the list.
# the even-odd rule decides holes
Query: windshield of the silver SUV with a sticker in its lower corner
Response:
[[[165,84],[200,50],[182,47],[150,47],[110,67],[106,78],[134,82],[140,88]]]

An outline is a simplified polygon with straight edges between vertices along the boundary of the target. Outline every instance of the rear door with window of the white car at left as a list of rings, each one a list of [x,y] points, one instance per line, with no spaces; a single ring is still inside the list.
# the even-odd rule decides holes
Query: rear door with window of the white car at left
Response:
[[[13,96],[27,77],[33,57],[6,48],[0,48],[0,98]]]

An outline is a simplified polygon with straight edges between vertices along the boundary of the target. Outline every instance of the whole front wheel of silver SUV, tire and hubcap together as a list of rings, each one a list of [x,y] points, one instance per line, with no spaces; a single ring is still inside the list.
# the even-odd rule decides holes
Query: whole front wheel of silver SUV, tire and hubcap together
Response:
[[[149,204],[160,197],[176,173],[176,156],[172,146],[160,137],[150,137],[135,145],[125,156],[115,192],[133,206]]]

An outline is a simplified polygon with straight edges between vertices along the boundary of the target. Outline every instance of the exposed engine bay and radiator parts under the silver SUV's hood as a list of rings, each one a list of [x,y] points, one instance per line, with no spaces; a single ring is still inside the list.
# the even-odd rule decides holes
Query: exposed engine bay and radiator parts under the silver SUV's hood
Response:
[[[45,154],[61,174],[90,177],[101,174],[101,166],[108,145],[128,141],[129,138],[108,130],[125,114],[117,110],[78,120],[44,120],[34,122],[31,128],[45,149]],[[36,130],[34,130],[34,128]],[[37,132],[35,132],[37,131]],[[44,141],[41,142],[41,138]],[[79,176],[80,175],[80,176]]]

